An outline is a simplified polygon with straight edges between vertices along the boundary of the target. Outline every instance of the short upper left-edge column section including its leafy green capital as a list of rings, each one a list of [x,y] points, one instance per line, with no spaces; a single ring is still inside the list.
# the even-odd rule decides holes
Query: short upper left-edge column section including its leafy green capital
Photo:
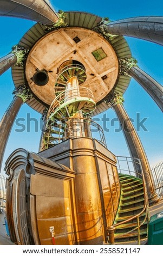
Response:
[[[28,51],[29,50],[25,49],[24,47],[14,45],[11,53],[0,58],[0,75],[11,68],[11,66],[23,66],[24,60],[27,58]]]

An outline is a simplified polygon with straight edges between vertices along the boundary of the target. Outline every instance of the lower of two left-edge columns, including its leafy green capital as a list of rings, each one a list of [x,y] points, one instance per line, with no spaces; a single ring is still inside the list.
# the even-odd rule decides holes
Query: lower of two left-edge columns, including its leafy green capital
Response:
[[[15,89],[14,94],[15,94],[14,99],[12,100],[8,109],[4,113],[0,123],[0,172],[2,167],[4,151],[6,148],[6,144],[8,143],[8,139],[9,139],[10,132],[14,124],[15,118],[22,104],[25,101],[31,99],[32,97],[32,95],[29,92],[29,89],[26,89],[25,86],[21,86]]]

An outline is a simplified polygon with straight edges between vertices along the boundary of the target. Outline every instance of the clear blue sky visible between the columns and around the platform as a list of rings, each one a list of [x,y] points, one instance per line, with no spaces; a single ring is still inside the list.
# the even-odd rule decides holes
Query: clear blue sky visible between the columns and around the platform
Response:
[[[163,9],[163,1],[59,1],[51,0],[51,4],[56,10],[79,10],[96,14],[101,17],[109,17],[110,20],[119,20],[126,17],[135,16],[161,16]],[[14,17],[0,17],[1,19],[1,40],[0,40],[0,57],[8,54],[11,47],[18,43],[23,34],[35,24],[33,21],[17,19]],[[151,75],[160,84],[163,84],[162,68],[163,68],[163,48],[160,45],[153,44],[144,40],[128,38],[126,40],[131,48],[133,57],[138,60],[139,67]],[[5,109],[12,100],[12,91],[14,84],[11,78],[11,69],[0,77],[0,118],[2,118]],[[154,103],[151,97],[141,88],[141,86],[133,79],[129,85],[125,95],[124,106],[127,113],[133,119],[136,113],[140,113],[140,118],[148,118],[144,123],[148,131],[140,129],[138,135],[144,145],[149,163],[151,166],[163,160],[163,136],[162,136],[162,112]],[[17,118],[27,117],[30,113],[31,118],[41,118],[41,115],[33,111],[24,104],[18,113]],[[116,115],[112,109],[107,111],[107,118],[115,118]],[[99,115],[102,118],[102,115]],[[24,122],[25,124],[25,122]],[[110,132],[106,132],[106,141],[108,149],[115,155],[129,156],[125,138],[122,132],[114,132],[114,127],[109,127]],[[116,127],[118,123],[116,124]],[[25,148],[29,151],[38,151],[41,131],[35,131],[34,123],[31,122],[30,132],[15,132],[16,125],[13,126],[8,145],[5,150],[4,162],[7,157],[16,148]]]

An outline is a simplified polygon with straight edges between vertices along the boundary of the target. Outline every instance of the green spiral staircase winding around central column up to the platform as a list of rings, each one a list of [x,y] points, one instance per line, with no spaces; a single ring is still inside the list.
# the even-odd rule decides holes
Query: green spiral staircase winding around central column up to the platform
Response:
[[[86,137],[89,120],[84,119],[83,114],[90,114],[96,108],[92,91],[81,87],[86,78],[86,70],[81,63],[68,60],[60,66],[55,83],[56,97],[48,111],[43,149],[52,147],[61,137],[73,137],[74,125],[77,127],[76,130],[81,130],[75,132],[75,136]],[[71,130],[68,136],[65,135],[66,130]]]

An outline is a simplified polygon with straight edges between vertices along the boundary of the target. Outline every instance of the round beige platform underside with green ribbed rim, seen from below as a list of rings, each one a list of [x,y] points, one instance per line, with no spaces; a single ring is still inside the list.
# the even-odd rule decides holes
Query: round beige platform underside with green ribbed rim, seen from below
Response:
[[[47,32],[45,26],[36,23],[19,41],[29,49],[25,67],[12,67],[15,87],[27,83],[34,97],[28,105],[42,113],[55,99],[54,86],[59,66],[66,60],[81,62],[87,72],[83,87],[92,90],[96,110],[94,115],[109,108],[103,99],[114,88],[120,95],[125,93],[130,77],[119,74],[118,58],[131,58],[131,51],[123,36],[113,40],[93,31],[102,20],[100,17],[79,12],[65,13],[68,27]],[[48,82],[38,86],[32,81],[37,70],[45,70]]]

